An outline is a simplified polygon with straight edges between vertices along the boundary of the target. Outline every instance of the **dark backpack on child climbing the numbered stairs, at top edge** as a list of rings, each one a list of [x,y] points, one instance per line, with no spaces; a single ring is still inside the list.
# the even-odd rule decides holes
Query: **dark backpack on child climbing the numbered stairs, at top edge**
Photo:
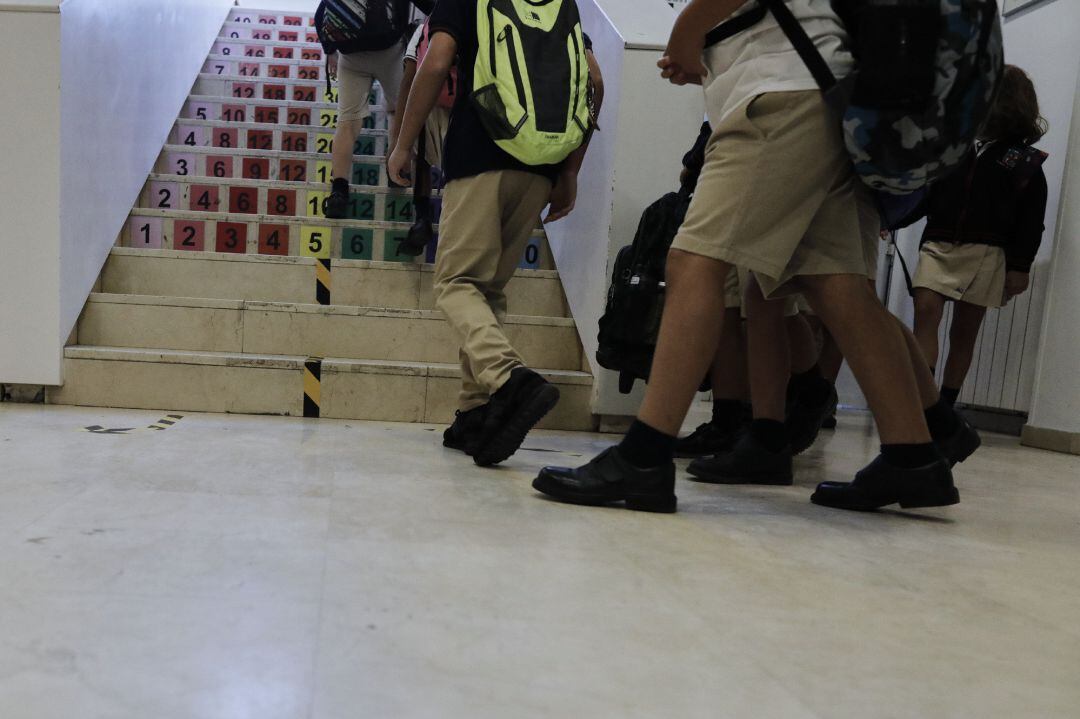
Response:
[[[405,37],[408,15],[408,3],[399,0],[322,0],[315,31],[327,53],[387,50]]]

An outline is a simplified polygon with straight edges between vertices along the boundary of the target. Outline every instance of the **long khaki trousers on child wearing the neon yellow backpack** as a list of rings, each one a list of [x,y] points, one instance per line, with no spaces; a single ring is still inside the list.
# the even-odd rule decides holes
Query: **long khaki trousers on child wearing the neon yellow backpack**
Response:
[[[503,330],[503,290],[551,188],[540,175],[508,169],[451,180],[443,190],[435,307],[461,341],[462,411],[485,404],[525,364]]]

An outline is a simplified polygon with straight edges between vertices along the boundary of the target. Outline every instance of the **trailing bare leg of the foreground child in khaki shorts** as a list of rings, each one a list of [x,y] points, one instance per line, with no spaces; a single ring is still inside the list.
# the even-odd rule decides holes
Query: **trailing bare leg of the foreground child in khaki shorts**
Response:
[[[866,277],[810,275],[801,282],[811,307],[851,365],[882,444],[929,443],[912,356],[895,320],[870,291]]]

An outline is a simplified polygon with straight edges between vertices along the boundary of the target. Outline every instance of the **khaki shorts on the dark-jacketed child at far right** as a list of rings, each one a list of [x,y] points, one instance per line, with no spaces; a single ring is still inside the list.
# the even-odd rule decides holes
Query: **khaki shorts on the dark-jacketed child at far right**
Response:
[[[1004,307],[1005,253],[1000,247],[928,242],[919,249],[914,287],[980,307]]]

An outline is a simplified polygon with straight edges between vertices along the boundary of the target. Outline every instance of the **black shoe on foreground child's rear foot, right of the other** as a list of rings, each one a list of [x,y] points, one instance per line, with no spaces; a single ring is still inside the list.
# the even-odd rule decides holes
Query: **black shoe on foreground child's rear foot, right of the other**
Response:
[[[878,456],[855,475],[854,481],[823,481],[810,501],[837,510],[872,512],[889,504],[905,510],[948,506],[960,501],[953,472],[945,460],[904,470]]]

